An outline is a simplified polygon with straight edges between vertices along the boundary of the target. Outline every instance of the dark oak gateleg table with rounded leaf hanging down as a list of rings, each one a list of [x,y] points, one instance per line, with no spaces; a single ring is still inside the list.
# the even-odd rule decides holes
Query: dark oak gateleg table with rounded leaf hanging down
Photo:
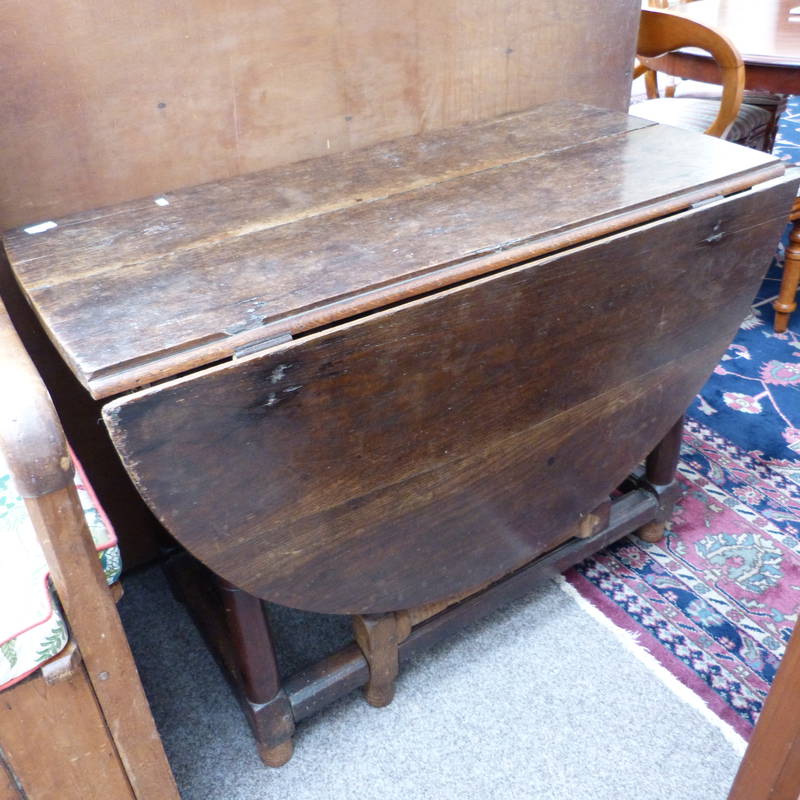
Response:
[[[265,763],[534,581],[663,535],[680,420],[769,262],[783,173],[557,103],[5,235],[185,551],[175,581]],[[281,676],[262,600],[351,615],[354,642]]]

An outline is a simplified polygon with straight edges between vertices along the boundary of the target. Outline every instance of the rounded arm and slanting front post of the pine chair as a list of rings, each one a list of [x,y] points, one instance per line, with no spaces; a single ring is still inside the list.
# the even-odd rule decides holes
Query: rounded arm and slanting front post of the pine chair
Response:
[[[0,448],[136,800],[178,800],[50,396],[0,302]],[[66,721],[65,721],[66,722]],[[87,777],[87,780],[90,780]]]

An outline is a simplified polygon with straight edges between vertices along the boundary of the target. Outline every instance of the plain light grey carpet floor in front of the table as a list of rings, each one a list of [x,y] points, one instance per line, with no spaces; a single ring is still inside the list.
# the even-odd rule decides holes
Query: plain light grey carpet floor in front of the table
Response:
[[[738,766],[719,730],[547,583],[406,666],[388,708],[355,693],[300,723],[292,760],[268,769],[160,570],[125,589],[184,800],[723,800]]]

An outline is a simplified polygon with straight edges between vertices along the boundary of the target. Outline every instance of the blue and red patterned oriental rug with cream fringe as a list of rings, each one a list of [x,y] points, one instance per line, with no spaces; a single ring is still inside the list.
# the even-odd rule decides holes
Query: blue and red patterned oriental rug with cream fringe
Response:
[[[775,153],[800,163],[800,97]],[[772,330],[784,246],[689,409],[664,540],[628,537],[567,573],[744,737],[800,607],[800,311]]]

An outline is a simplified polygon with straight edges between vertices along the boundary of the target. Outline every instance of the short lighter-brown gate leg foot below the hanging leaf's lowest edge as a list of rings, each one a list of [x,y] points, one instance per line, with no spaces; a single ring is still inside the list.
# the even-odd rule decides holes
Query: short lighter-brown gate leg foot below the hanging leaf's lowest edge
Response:
[[[394,682],[399,671],[401,633],[397,616],[394,613],[354,616],[353,633],[369,664],[369,682],[364,687],[364,696],[375,708],[388,706],[394,698]]]

